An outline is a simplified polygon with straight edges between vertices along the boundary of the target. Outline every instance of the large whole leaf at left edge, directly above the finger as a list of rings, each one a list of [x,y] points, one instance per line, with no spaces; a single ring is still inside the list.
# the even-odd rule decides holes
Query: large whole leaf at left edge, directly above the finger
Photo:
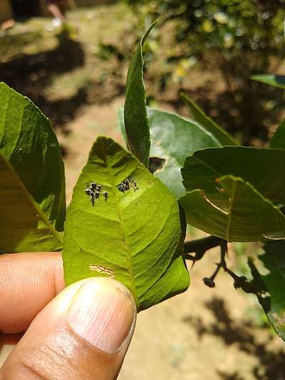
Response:
[[[25,212],[24,206],[15,207],[16,202],[13,205],[8,194],[9,203],[3,203],[6,195],[2,194],[2,206],[14,210],[8,218],[11,224],[7,224],[9,229],[13,227],[14,232],[8,238],[6,222],[3,222],[0,252],[61,249],[61,238],[56,231],[63,230],[66,195],[63,160],[56,135],[46,116],[32,102],[4,83],[0,83],[0,99],[0,154],[5,173],[1,181],[3,186],[7,186],[9,181],[14,183],[19,200],[29,193],[34,202],[34,205],[27,206],[30,207],[27,212],[33,213],[33,220],[27,219],[26,224],[22,225],[17,215]],[[37,228],[41,231],[34,232]],[[44,229],[47,230],[46,242]],[[21,239],[24,241],[21,242]]]

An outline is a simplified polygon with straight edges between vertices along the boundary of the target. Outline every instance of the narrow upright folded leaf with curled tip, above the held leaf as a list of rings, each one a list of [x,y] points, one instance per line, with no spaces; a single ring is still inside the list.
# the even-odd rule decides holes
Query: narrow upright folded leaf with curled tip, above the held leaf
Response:
[[[142,47],[150,34],[150,26],[130,62],[125,88],[125,131],[130,151],[148,168],[150,156],[150,126],[147,120],[145,85],[143,83]]]

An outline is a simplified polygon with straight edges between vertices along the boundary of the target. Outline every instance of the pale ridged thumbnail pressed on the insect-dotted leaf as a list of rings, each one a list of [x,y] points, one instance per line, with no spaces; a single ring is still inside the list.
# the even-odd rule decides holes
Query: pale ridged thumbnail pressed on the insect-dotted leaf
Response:
[[[71,329],[109,354],[120,351],[133,334],[135,318],[133,296],[123,284],[106,277],[86,280],[68,311]]]

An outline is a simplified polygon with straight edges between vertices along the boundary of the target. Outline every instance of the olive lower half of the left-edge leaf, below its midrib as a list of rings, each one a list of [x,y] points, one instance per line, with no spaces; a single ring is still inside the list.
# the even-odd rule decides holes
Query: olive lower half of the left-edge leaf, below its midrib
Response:
[[[61,250],[61,235],[0,154],[0,252]]]

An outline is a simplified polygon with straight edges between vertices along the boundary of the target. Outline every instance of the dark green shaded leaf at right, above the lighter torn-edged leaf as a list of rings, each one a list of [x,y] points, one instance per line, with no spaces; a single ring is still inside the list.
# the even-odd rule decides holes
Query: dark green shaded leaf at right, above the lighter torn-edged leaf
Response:
[[[202,189],[212,200],[222,196],[215,180],[235,175],[251,183],[272,202],[285,203],[285,150],[223,147],[198,150],[185,160],[182,168],[187,191]]]

